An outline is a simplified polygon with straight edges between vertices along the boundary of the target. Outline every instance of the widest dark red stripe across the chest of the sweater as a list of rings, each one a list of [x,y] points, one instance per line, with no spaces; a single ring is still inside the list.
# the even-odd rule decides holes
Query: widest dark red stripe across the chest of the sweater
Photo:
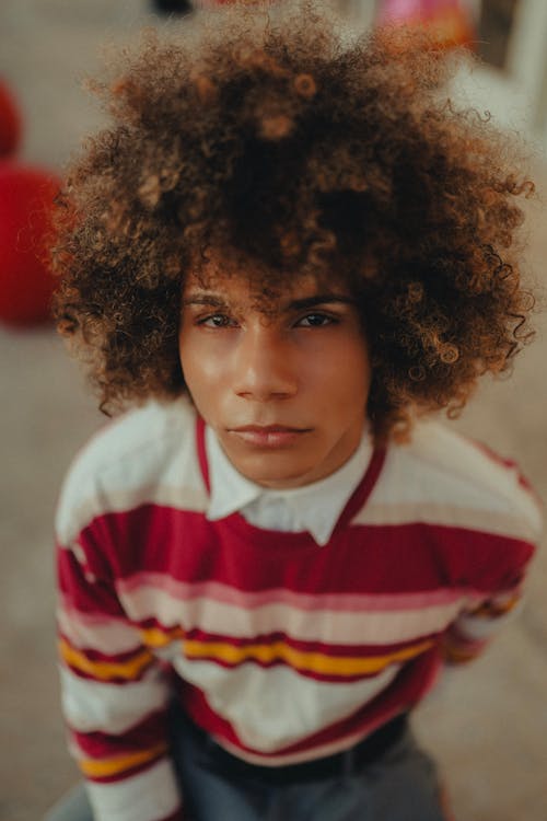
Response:
[[[519,539],[421,522],[337,529],[318,550],[307,539],[302,542],[300,536],[306,534],[287,537],[253,528],[236,532],[231,519],[208,522],[201,513],[146,505],[107,513],[84,537],[93,537],[96,523],[113,534],[103,548],[115,578],[131,578],[139,567],[182,582],[214,580],[248,592],[284,588],[310,594],[418,593],[451,587],[488,594],[511,589],[517,581],[513,568],[522,568],[534,552]],[[71,564],[79,574],[77,563]],[[102,597],[106,612],[119,612],[100,587],[93,594]]]

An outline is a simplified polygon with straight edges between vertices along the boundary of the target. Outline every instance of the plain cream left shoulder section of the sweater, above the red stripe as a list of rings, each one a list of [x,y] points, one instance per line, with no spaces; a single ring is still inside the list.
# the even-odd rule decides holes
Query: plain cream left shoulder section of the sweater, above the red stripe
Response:
[[[201,509],[195,423],[195,409],[181,398],[151,402],[100,430],[65,478],[56,517],[59,541],[69,543],[97,516],[147,502]]]

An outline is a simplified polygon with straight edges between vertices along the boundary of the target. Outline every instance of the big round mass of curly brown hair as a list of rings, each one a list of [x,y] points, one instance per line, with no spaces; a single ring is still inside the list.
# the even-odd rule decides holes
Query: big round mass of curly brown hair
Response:
[[[344,271],[379,437],[508,370],[531,337],[516,200],[534,186],[451,102],[458,59],[400,28],[349,38],[309,0],[199,12],[124,51],[95,83],[112,125],[69,170],[53,252],[58,328],[102,408],[186,390],[181,292],[212,247],[265,290]]]

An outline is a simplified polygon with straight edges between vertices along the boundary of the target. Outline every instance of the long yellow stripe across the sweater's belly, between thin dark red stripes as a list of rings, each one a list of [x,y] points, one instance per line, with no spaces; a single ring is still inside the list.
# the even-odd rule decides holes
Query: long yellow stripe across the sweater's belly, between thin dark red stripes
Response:
[[[330,675],[357,675],[377,673],[388,664],[396,661],[407,661],[429,650],[433,641],[422,641],[404,650],[396,650],[387,656],[373,656],[370,658],[352,656],[327,656],[324,652],[310,652],[295,650],[283,641],[272,644],[246,645],[235,647],[223,641],[191,641],[184,643],[184,651],[188,658],[213,658],[229,664],[240,664],[248,659],[255,659],[263,663],[282,660],[298,670],[323,673]]]

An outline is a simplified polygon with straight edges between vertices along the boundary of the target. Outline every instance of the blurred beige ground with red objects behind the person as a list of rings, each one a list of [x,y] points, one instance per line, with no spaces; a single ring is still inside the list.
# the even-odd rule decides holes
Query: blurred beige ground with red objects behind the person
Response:
[[[25,186],[55,183],[83,136],[101,125],[82,79],[100,69],[105,48],[135,38],[143,25],[185,25],[188,2],[0,2],[1,821],[39,819],[78,779],[58,707],[51,528],[69,462],[103,424],[77,366],[42,321],[36,294],[45,293],[47,303],[47,280],[40,280],[47,275],[34,269],[35,256],[14,259],[10,242],[37,219],[24,210]],[[531,206],[525,267],[545,294],[547,3],[329,2],[356,27],[410,19],[434,26],[446,47],[468,43],[478,51],[482,65],[463,71],[456,91],[531,146],[539,196]],[[536,340],[516,360],[513,378],[484,384],[455,424],[516,459],[546,499],[545,315],[535,324]],[[446,677],[418,710],[418,732],[440,762],[457,821],[547,818],[546,582],[544,550],[519,617],[482,659]]]

